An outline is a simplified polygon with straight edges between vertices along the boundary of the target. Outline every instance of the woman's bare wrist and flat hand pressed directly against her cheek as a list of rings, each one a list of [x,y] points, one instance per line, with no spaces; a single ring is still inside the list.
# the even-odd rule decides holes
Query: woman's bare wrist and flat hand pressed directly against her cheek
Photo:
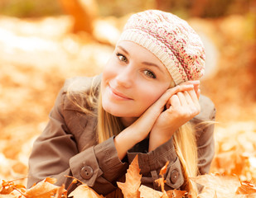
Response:
[[[168,89],[167,92],[162,94],[162,97],[160,97],[133,123],[133,125],[128,126],[128,128],[120,132],[114,139],[118,157],[122,159],[129,148],[132,148],[135,144],[147,137],[158,116],[162,115],[164,107],[173,95],[178,92],[189,92],[193,89],[194,85],[191,83]]]

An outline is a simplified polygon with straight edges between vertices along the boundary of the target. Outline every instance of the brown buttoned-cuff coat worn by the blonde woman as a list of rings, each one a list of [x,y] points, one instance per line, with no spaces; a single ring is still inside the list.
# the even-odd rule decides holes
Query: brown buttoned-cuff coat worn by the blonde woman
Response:
[[[92,78],[72,78],[65,82],[56,104],[51,110],[50,120],[46,129],[36,139],[29,159],[29,177],[27,187],[43,180],[55,177],[57,185],[65,183],[70,186],[73,176],[99,194],[107,195],[116,188],[118,181],[125,174],[128,164],[138,154],[138,162],[142,173],[142,184],[157,189],[154,182],[160,169],[169,161],[166,173],[167,189],[178,189],[184,182],[180,159],[177,157],[172,139],[152,152],[147,152],[148,139],[135,145],[120,161],[114,147],[114,137],[104,143],[97,144],[95,128],[97,117],[86,115],[67,96],[67,90],[73,94],[81,106],[85,100],[78,92],[89,92]],[[99,86],[101,76],[96,77]],[[97,92],[96,92],[97,94]],[[195,124],[215,119],[215,106],[209,98],[200,96],[200,115],[191,121]],[[200,174],[209,172],[214,157],[214,125],[196,130],[198,146],[198,167]],[[75,185],[70,188],[74,190]]]

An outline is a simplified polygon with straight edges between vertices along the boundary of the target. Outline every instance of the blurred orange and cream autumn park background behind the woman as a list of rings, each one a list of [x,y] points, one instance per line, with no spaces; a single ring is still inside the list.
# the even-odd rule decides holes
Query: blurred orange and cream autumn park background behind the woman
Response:
[[[211,172],[256,181],[254,0],[1,0],[0,179],[27,177],[65,79],[101,73],[128,16],[152,8],[188,21],[205,44],[200,87],[217,108]]]

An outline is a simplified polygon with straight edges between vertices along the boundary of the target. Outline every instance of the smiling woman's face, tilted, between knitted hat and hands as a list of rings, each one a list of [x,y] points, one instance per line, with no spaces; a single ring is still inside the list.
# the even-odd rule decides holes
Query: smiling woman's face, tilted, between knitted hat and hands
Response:
[[[171,76],[150,51],[121,41],[104,68],[101,83],[105,111],[122,118],[138,118],[167,91]]]

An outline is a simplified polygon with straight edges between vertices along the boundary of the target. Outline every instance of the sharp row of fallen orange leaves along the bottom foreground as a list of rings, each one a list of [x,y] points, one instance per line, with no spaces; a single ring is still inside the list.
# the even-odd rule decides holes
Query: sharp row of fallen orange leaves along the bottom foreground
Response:
[[[126,181],[124,183],[117,182],[118,187],[122,190],[124,198],[182,198],[191,197],[191,192],[178,191],[178,190],[164,190],[164,174],[167,171],[167,164],[162,167],[160,171],[160,178],[156,180],[158,186],[161,186],[162,191],[155,191],[152,188],[141,185],[142,175],[139,173],[138,156],[133,159],[133,162],[128,168],[126,173]],[[204,186],[202,192],[199,194],[199,198],[254,198],[256,197],[256,186],[254,184],[241,182],[238,177],[225,177],[220,175],[203,175],[195,178],[191,178],[191,181],[196,182]],[[25,186],[15,184],[14,181],[2,181],[0,184],[0,198],[61,198],[71,197],[80,198],[104,198],[97,194],[92,188],[87,186],[82,181],[74,179],[72,182],[81,182],[82,184],[75,188],[69,196],[65,186],[55,186],[55,178],[47,177],[45,180],[38,182],[30,189],[26,189]]]

